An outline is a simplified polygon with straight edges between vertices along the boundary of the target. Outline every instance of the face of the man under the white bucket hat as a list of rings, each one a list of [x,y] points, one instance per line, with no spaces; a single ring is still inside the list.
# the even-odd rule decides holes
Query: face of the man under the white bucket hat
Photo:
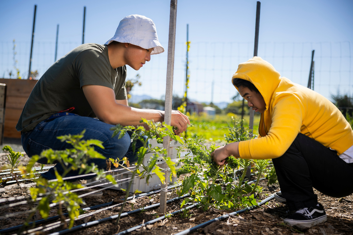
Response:
[[[143,49],[139,46],[128,44],[126,53],[126,64],[134,70],[139,70],[146,61],[151,60],[151,52],[154,48]]]

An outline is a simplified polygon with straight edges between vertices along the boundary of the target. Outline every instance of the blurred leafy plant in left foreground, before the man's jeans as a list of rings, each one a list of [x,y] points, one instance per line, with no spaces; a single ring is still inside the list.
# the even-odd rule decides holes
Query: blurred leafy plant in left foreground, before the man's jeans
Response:
[[[30,188],[32,202],[35,202],[39,197],[41,197],[41,200],[38,205],[31,209],[26,223],[28,223],[36,211],[39,211],[44,219],[47,218],[50,210],[49,204],[57,203],[59,204],[58,214],[62,214],[62,206],[64,206],[70,218],[68,227],[71,228],[73,226],[74,218],[79,215],[80,204],[83,204],[83,201],[76,193],[70,190],[82,188],[82,186],[65,181],[63,178],[71,170],[78,170],[79,174],[93,172],[97,173],[98,177],[104,177],[103,170],[98,170],[94,163],[91,165],[87,164],[87,161],[91,158],[105,159],[103,155],[94,150],[94,146],[104,148],[102,142],[98,140],[82,140],[84,133],[85,130],[78,135],[57,137],[61,142],[65,141],[72,144],[73,148],[65,150],[44,150],[40,155],[32,156],[26,168],[21,168],[25,178],[32,180],[35,177],[35,172],[32,170],[32,167],[43,157],[47,158],[49,164],[58,162],[64,169],[61,175],[59,175],[55,169],[56,180],[54,181],[48,181],[42,177],[34,180],[36,187]]]

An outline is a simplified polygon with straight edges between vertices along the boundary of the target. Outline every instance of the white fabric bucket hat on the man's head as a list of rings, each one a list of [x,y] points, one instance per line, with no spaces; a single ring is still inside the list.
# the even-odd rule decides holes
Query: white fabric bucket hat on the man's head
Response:
[[[160,54],[164,51],[164,48],[158,42],[156,25],[150,18],[140,15],[130,15],[122,18],[114,37],[110,38],[105,44],[108,45],[112,41],[131,43],[143,49],[154,48],[151,55]]]

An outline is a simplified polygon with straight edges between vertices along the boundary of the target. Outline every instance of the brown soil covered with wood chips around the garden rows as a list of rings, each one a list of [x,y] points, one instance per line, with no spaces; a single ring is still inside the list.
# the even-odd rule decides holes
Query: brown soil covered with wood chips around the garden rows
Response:
[[[21,159],[24,164],[27,159]],[[0,156],[0,163],[6,163],[6,158],[4,155]],[[267,186],[267,180],[260,181],[260,186],[263,187],[263,191],[258,195],[257,199],[263,200],[267,198],[270,194],[279,191],[279,185],[274,184]],[[353,233],[353,195],[345,198],[332,198],[325,196],[324,194],[316,191],[318,195],[319,202],[324,206],[327,214],[327,222],[319,224],[317,226],[311,227],[309,229],[298,229],[293,228],[282,223],[282,218],[286,218],[291,215],[293,211],[289,211],[286,204],[279,203],[276,200],[270,200],[268,203],[263,205],[261,208],[256,208],[252,211],[247,211],[243,214],[237,216],[229,217],[219,222],[208,225],[205,228],[199,229],[191,234],[206,234],[206,235],[223,235],[223,234],[285,234],[285,235],[296,235],[296,234],[352,234]],[[29,195],[29,185],[22,184],[22,188],[19,188],[17,185],[8,185],[0,188],[1,198],[16,197],[16,196],[28,196]],[[168,199],[177,197],[178,195],[175,191],[168,192]],[[83,205],[82,208],[87,206],[99,205],[107,202],[119,203],[119,199],[124,198],[124,193],[121,191],[115,190],[104,190],[102,198],[99,199],[85,199],[86,205]],[[128,203],[124,211],[130,211],[132,209],[142,208],[143,206],[155,204],[159,202],[160,194],[152,194],[149,197],[137,198],[132,203]],[[167,211],[173,212],[180,209],[180,203],[182,200],[167,204]],[[8,203],[1,203],[0,206]],[[18,205],[10,208],[2,209],[0,212],[0,229],[13,227],[16,225],[23,224],[28,213],[14,215],[8,217],[11,213],[21,212],[30,209],[30,205]],[[98,209],[97,209],[98,210]],[[106,218],[109,216],[117,215],[120,210],[120,206],[112,208],[90,217],[83,219],[83,221],[76,221],[74,226],[87,223],[90,221],[95,221],[98,219]],[[55,216],[58,211],[57,207],[50,210],[50,216]],[[89,212],[94,210],[89,210]],[[163,221],[157,222],[152,225],[147,225],[133,231],[132,235],[142,235],[148,233],[149,235],[173,235],[185,229],[192,228],[198,224],[201,224],[210,219],[222,216],[226,213],[232,211],[224,210],[215,210],[210,209],[208,211],[203,211],[202,208],[193,208],[188,212],[188,215],[182,217],[180,215],[175,215],[170,218],[164,219]],[[139,225],[143,222],[150,221],[156,217],[161,216],[159,213],[159,207],[156,207],[151,210],[146,210],[141,213],[132,214],[129,216],[122,217],[120,219],[120,224],[115,225],[115,219],[107,221],[101,224],[97,224],[92,227],[88,227],[82,230],[73,231],[69,234],[75,235],[110,235],[116,234],[119,231],[126,230],[128,228]],[[8,218],[6,218],[6,215]],[[37,213],[33,220],[41,219]],[[53,221],[52,221],[53,222]],[[49,223],[52,223],[49,222]],[[43,225],[43,224],[37,224]],[[42,234],[50,234],[53,232],[58,232],[63,230],[64,227],[59,227]],[[13,234],[12,233],[4,233]]]

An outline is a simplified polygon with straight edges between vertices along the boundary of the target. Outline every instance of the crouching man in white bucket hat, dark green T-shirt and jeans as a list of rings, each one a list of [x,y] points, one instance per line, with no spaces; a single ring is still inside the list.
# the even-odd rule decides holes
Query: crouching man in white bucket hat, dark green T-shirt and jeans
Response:
[[[33,88],[16,125],[28,156],[39,155],[49,148],[72,148],[56,137],[86,130],[84,139],[102,141],[104,149],[95,149],[107,159],[126,156],[134,161],[130,136],[111,138],[109,128],[116,124],[139,125],[141,118],[164,120],[164,111],[129,107],[125,89],[126,64],[139,70],[150,61],[151,55],[163,51],[153,21],[131,15],[120,21],[115,35],[104,45],[83,44],[56,61]],[[178,128],[175,134],[180,134],[190,121],[179,111],[172,111],[171,124]],[[38,162],[47,163],[46,159]],[[91,159],[88,164],[91,162],[98,168],[106,168],[106,160]],[[56,169],[59,174],[63,171],[60,164]],[[72,171],[66,177],[77,175],[77,171]],[[42,177],[55,179],[54,169]],[[94,196],[100,197],[102,193]]]

